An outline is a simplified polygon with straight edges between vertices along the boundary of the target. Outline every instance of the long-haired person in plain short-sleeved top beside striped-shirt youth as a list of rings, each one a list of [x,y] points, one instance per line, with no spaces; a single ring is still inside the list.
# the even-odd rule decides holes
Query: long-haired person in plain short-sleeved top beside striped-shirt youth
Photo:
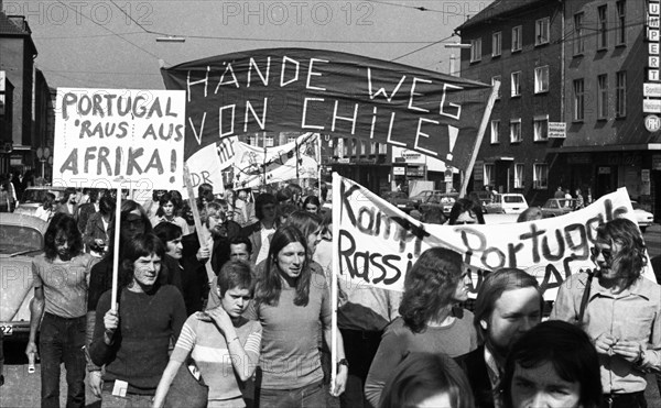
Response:
[[[313,273],[310,263],[307,240],[301,231],[292,225],[278,229],[247,311],[263,328],[257,397],[262,407],[326,404],[317,335],[322,324],[330,345],[330,296],[326,279]],[[334,396],[344,392],[348,368],[339,333],[337,359]]]

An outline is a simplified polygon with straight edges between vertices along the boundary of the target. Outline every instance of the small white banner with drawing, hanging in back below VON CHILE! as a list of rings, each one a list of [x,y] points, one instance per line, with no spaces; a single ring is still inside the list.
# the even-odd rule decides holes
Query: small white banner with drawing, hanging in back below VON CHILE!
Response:
[[[254,188],[294,178],[316,178],[316,133],[305,133],[294,142],[273,147],[236,143],[235,188]]]

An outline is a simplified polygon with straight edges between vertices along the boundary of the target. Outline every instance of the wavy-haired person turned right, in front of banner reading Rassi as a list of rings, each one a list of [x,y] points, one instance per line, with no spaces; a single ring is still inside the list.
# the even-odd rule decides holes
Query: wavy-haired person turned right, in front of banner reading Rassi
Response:
[[[455,307],[468,299],[466,276],[462,255],[442,247],[423,252],[407,273],[401,318],[386,329],[365,384],[372,406],[379,405],[386,382],[410,352],[456,357],[477,348],[473,313]]]

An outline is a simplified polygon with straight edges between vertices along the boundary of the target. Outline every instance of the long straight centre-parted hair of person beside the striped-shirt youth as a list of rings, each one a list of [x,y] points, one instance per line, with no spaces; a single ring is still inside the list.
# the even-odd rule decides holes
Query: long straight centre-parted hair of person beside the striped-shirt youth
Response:
[[[257,305],[266,304],[269,306],[278,306],[280,293],[282,291],[282,278],[280,276],[280,267],[278,266],[278,254],[286,245],[297,242],[303,245],[305,253],[307,250],[307,240],[297,228],[284,225],[275,230],[271,239],[269,247],[269,256],[267,257],[264,271],[259,274],[254,289],[254,302]],[[312,279],[312,269],[310,268],[310,256],[305,256],[301,275],[296,279],[296,297],[294,305],[307,306],[310,300],[310,283]]]

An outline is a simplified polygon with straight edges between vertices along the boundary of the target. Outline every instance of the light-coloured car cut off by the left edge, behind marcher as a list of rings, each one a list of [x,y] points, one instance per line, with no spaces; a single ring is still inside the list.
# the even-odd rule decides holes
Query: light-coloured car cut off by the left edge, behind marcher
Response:
[[[0,213],[0,329],[6,341],[30,334],[32,258],[43,252],[46,227],[36,217]]]

